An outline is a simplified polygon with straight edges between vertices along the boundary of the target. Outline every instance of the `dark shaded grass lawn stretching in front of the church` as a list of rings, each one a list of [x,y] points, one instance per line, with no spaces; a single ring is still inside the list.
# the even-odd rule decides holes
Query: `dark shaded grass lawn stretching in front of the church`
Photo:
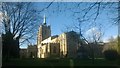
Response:
[[[11,59],[3,61],[3,66],[118,66],[118,62],[95,59],[93,64],[92,60],[81,59]]]

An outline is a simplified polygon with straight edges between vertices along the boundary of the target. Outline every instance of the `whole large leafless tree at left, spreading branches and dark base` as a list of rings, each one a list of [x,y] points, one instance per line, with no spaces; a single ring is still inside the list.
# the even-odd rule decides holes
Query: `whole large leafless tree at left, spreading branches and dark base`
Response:
[[[35,9],[34,3],[30,2],[3,2],[0,5],[2,13],[1,22],[3,24],[3,52],[5,52],[3,54],[9,55],[10,51],[16,50],[12,49],[14,47],[17,48],[17,54],[19,54],[20,42],[30,42],[30,39],[35,39],[37,28],[42,19],[40,12],[50,7],[51,4],[52,2],[41,10]]]

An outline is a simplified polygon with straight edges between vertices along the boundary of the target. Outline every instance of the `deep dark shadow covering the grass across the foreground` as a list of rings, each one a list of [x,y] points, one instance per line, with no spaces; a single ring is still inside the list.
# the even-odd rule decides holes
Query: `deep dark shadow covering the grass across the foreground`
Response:
[[[2,68],[5,67],[21,67],[21,68],[56,68],[63,66],[65,68],[98,68],[107,66],[107,68],[115,68],[118,67],[117,61],[107,61],[105,59],[95,59],[95,63],[92,63],[92,60],[81,60],[81,59],[10,59],[8,62],[3,60]]]

